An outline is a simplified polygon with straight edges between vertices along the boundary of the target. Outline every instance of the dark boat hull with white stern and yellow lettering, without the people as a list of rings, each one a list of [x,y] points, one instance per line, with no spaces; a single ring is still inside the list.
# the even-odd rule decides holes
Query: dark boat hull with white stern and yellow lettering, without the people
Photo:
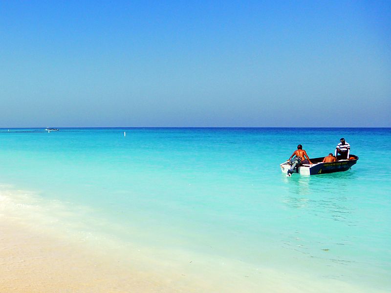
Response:
[[[331,163],[322,163],[323,157],[311,159],[311,161],[315,164],[300,165],[299,167],[295,168],[294,172],[302,175],[318,175],[318,174],[326,174],[326,173],[344,172],[357,163],[358,160],[357,156],[350,155],[350,157],[354,159],[338,160],[336,162],[331,162]],[[280,167],[283,173],[287,173],[291,166],[288,164],[288,162],[285,162],[280,164]]]

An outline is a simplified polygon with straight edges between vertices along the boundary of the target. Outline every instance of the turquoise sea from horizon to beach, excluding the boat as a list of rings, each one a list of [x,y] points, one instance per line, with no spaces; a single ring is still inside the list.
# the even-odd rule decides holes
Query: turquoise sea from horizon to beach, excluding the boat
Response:
[[[320,157],[341,137],[352,169],[282,174],[298,144]],[[301,292],[303,280],[388,292],[390,146],[391,128],[7,128],[0,184],[47,214],[39,225],[130,258],[139,248],[143,267],[153,255],[157,271],[183,268],[212,289],[232,274],[255,292],[264,270]]]

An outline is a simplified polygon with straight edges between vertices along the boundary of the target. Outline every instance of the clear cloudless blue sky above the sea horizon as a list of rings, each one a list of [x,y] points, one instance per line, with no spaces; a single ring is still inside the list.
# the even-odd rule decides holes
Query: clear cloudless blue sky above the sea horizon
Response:
[[[0,127],[391,126],[391,1],[1,1]]]

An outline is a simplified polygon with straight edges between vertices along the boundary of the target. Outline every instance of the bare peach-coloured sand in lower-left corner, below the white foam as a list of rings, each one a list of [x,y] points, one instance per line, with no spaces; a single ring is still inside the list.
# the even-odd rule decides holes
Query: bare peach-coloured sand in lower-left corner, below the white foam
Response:
[[[188,292],[120,259],[32,233],[1,217],[0,292]]]

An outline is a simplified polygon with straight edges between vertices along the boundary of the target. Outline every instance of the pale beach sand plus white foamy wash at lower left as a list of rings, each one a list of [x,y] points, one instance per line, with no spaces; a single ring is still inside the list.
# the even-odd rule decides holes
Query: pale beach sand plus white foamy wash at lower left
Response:
[[[64,212],[56,205],[1,186],[0,292],[192,292],[179,273],[151,272],[141,258],[78,237],[56,218]]]

